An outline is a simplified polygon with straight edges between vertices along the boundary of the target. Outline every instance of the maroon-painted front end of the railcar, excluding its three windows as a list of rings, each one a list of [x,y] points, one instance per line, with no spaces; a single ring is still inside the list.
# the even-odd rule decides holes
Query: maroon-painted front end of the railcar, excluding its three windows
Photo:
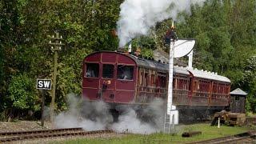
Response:
[[[86,63],[99,64],[98,78],[86,78]],[[103,64],[114,65],[114,78],[102,78]],[[132,80],[117,78],[118,65],[134,66],[134,77]],[[115,52],[98,52],[88,55],[83,61],[82,96],[90,100],[102,99],[104,102],[130,103],[134,100],[135,82],[137,78],[136,62],[125,54]],[[102,92],[102,87],[106,89]]]

